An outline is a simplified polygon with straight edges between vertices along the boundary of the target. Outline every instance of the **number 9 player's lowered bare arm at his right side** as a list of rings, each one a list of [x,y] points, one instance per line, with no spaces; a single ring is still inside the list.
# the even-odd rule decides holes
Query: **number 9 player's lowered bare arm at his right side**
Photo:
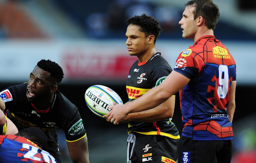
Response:
[[[233,121],[234,110],[236,108],[236,103],[235,103],[236,85],[237,85],[237,81],[233,81],[229,89],[229,101],[227,106],[227,112],[228,112],[228,119],[230,120],[231,123]]]

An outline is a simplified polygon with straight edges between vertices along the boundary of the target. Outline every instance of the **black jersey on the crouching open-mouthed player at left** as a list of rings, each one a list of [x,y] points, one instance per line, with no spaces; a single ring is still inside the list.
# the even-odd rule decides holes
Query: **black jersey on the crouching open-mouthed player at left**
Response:
[[[8,87],[0,92],[0,97],[5,102],[5,111],[11,111],[12,116],[20,125],[17,126],[15,122],[18,130],[38,127],[46,133],[48,141],[55,141],[55,143],[57,143],[57,135],[54,130],[56,128],[64,131],[69,142],[85,137],[86,132],[77,107],[62,93],[57,90],[49,109],[39,110],[27,100],[26,91],[27,83],[24,83]],[[13,119],[8,111],[7,116],[11,120]]]

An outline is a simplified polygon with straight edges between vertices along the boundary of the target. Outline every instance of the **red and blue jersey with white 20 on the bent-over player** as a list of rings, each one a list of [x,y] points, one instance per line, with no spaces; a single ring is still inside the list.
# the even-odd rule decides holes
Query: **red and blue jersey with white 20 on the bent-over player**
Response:
[[[0,163],[57,163],[32,141],[16,135],[0,135]]]

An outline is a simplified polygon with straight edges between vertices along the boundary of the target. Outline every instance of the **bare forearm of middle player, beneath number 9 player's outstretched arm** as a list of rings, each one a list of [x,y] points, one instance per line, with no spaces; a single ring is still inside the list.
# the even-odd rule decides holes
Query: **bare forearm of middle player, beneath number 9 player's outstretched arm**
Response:
[[[166,102],[157,107],[145,111],[129,113],[124,121],[158,122],[173,116],[175,96],[171,96]]]

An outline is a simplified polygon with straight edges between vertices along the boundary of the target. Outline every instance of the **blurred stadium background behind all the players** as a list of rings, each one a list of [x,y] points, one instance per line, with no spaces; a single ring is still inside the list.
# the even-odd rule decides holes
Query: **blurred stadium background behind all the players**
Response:
[[[125,19],[143,13],[159,20],[156,49],[171,67],[193,44],[182,38],[179,20],[187,0],[0,0],[0,90],[27,81],[41,59],[64,70],[59,90],[81,113],[90,163],[125,163],[127,124],[112,125],[87,108],[85,90],[105,85],[127,102],[126,78],[132,63],[126,50]],[[220,9],[215,36],[237,63],[234,154],[232,163],[255,163],[256,155],[256,2],[214,0]],[[173,117],[182,130],[179,95]],[[70,163],[65,135],[58,130],[63,163]]]

